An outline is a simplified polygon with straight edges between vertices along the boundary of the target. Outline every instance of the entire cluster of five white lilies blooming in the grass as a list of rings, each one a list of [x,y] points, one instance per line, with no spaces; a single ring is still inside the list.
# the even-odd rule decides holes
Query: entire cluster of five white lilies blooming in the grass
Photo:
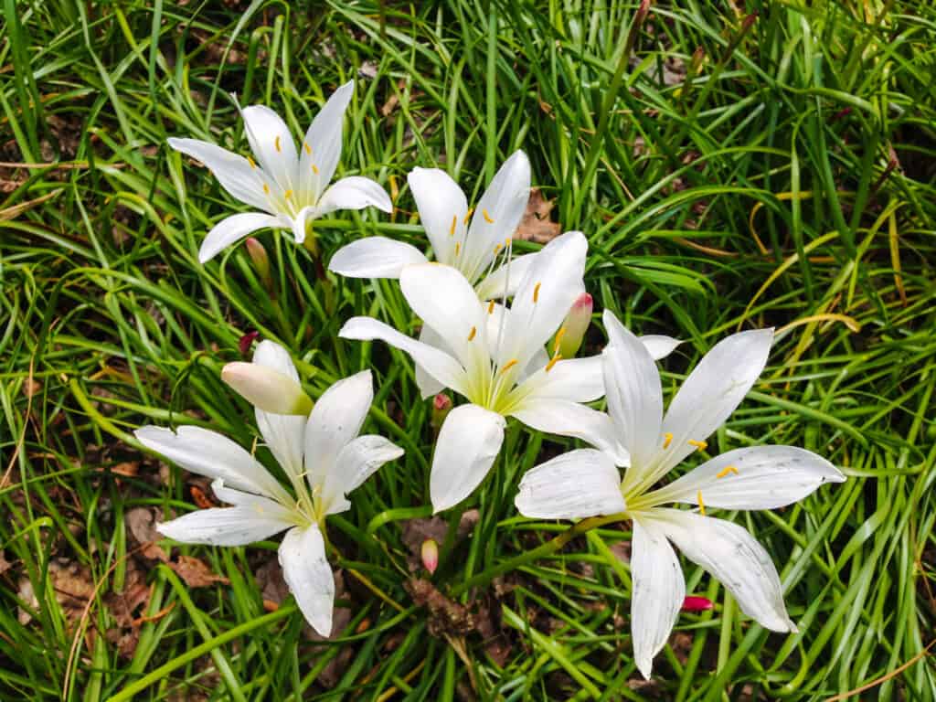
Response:
[[[173,148],[212,168],[233,197],[265,213],[228,216],[212,228],[202,261],[262,227],[291,230],[301,243],[312,220],[373,205],[391,212],[373,181],[344,178],[328,187],[341,154],[342,118],[353,86],[332,95],[297,148],[271,110],[241,111],[256,157],[211,143],[170,139]],[[535,431],[581,439],[581,448],[523,475],[516,506],[535,519],[629,520],[633,529],[631,625],[636,664],[650,677],[653,656],[679,616],[685,582],[676,545],[720,579],[739,607],[773,631],[796,631],[767,551],[745,529],[714,519],[713,509],[772,509],[844,480],[828,461],[789,446],[750,446],[661,480],[707,449],[767,363],[772,329],[742,331],[715,344],[664,412],[656,361],[679,344],[638,338],[609,311],[604,351],[576,358],[592,316],[585,290],[588,241],[566,232],[539,252],[513,256],[512,238],[530,191],[530,164],[512,154],[475,208],[435,168],[414,168],[410,191],[431,255],[384,237],[348,243],[329,269],[358,278],[399,279],[422,322],[418,339],[371,317],[354,317],[344,339],[381,340],[416,363],[424,398],[445,388],[465,398],[446,416],[431,462],[438,512],[460,504],[489,474],[504,443],[507,417]],[[432,260],[431,260],[432,259]],[[287,531],[280,547],[285,581],[306,619],[329,635],[334,585],[326,560],[325,518],[350,507],[346,494],[402,449],[358,436],[371,402],[371,373],[339,381],[317,402],[305,394],[282,346],[258,344],[253,363],[228,364],[228,385],[256,406],[256,422],[291,491],[246,450],[213,431],[144,427],[139,441],[185,469],[214,478],[233,505],[193,512],[159,526],[185,543],[240,546]],[[606,398],[607,413],[589,402]],[[673,503],[695,509],[666,507]]]

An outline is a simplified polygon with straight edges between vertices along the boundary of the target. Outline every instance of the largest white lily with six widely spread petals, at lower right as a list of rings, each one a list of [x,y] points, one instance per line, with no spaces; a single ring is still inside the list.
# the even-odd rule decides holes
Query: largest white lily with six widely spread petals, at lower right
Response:
[[[685,582],[675,544],[724,583],[762,626],[795,632],[780,577],[767,551],[745,529],[706,509],[773,509],[845,478],[825,459],[793,446],[737,448],[656,490],[680,461],[735,410],[767,363],[773,329],[742,331],[715,344],[686,378],[665,416],[660,375],[644,344],[606,311],[607,405],[631,465],[623,480],[615,458],[572,451],[536,466],[520,481],[520,514],[537,519],[621,515],[634,525],[631,626],[637,667],[647,679],[680,613]],[[618,463],[620,464],[620,463]],[[698,505],[698,512],[665,507]]]

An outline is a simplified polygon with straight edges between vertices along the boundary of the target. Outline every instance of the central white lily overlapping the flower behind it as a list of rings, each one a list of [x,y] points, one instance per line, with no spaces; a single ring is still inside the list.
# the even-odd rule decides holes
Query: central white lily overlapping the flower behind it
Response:
[[[450,266],[407,266],[400,274],[403,296],[439,344],[417,341],[371,317],[353,317],[339,332],[344,339],[396,346],[440,387],[471,402],[449,412],[439,431],[430,477],[436,512],[460,503],[488,474],[504,441],[505,417],[578,437],[627,460],[610,418],[584,404],[605,394],[601,357],[550,358],[545,350],[583,287],[587,250],[581,232],[550,241],[509,309],[478,300],[468,279]]]

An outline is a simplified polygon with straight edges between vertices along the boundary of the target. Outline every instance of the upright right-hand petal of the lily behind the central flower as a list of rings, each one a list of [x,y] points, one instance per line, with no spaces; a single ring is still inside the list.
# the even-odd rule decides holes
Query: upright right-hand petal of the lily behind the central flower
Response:
[[[497,244],[514,236],[529,199],[530,160],[516,151],[498,168],[475,207],[461,251],[461,268],[470,279],[488,268]]]

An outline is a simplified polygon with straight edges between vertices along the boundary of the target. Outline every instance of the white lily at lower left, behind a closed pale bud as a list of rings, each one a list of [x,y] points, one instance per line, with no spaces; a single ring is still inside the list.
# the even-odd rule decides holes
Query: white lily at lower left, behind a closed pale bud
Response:
[[[259,344],[254,363],[299,382],[292,359],[278,344]],[[363,371],[326,390],[309,417],[256,408],[260,432],[293,493],[241,446],[215,431],[140,428],[135,435],[143,446],[190,473],[214,478],[214,494],[233,505],[201,509],[156,529],[176,541],[212,546],[246,546],[288,530],[279,549],[286,585],[306,621],[329,636],[335,589],[325,555],[325,518],[350,508],[345,495],[403,454],[382,436],[358,436],[372,401],[371,372]]]

